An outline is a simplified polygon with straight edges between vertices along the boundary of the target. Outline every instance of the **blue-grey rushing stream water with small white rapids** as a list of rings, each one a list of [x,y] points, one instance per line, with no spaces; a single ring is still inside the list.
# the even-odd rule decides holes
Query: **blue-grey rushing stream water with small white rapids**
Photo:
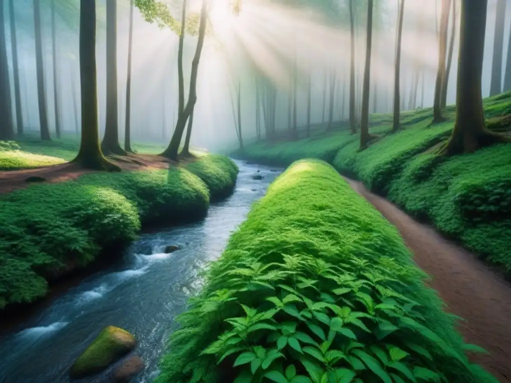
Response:
[[[126,251],[121,266],[90,276],[4,334],[0,382],[67,382],[68,368],[108,325],[134,334],[138,341],[134,353],[143,358],[146,368],[133,381],[151,382],[176,328],[176,316],[200,290],[200,271],[220,256],[229,234],[281,171],[237,163],[240,173],[234,194],[212,204],[205,220],[141,235]],[[254,174],[264,178],[254,180]],[[166,254],[167,245],[181,249]],[[109,372],[82,381],[106,382]]]

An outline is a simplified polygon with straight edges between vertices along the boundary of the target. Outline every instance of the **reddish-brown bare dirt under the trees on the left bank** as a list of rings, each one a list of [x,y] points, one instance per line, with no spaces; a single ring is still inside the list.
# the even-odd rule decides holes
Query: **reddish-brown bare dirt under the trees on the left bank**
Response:
[[[142,169],[166,169],[175,162],[156,155],[133,154],[126,157],[108,157],[113,163],[119,165],[123,171]],[[188,162],[184,159],[184,162]],[[28,182],[29,177],[41,177],[44,182],[62,182],[74,180],[83,174],[95,171],[83,169],[76,163],[66,162],[58,165],[41,166],[36,169],[23,169],[14,171],[0,171],[0,194],[10,193],[22,189],[35,182]],[[37,182],[40,183],[40,182]]]

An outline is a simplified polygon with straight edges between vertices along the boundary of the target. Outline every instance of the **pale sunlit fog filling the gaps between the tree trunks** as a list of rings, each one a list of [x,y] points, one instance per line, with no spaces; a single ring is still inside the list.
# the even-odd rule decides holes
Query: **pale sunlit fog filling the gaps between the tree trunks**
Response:
[[[64,0],[63,0],[64,1]],[[68,0],[76,2],[79,0]],[[105,1],[98,1],[97,67],[99,126],[101,135],[105,126],[106,99],[106,22]],[[210,25],[205,38],[199,66],[197,104],[194,112],[192,146],[209,150],[222,150],[237,145],[231,96],[241,83],[242,130],[246,141],[255,137],[255,79],[269,79],[277,88],[277,129],[288,127],[289,91],[292,88],[294,62],[297,77],[297,121],[304,125],[307,119],[307,83],[312,81],[312,123],[323,121],[323,89],[329,89],[335,73],[336,89],[334,120],[348,116],[350,26],[346,18],[346,1],[325,3],[331,7],[296,6],[290,1],[242,0],[239,15],[228,9],[229,0],[212,0]],[[180,1],[170,1],[171,9],[179,15]],[[200,7],[198,0],[190,0],[189,12]],[[12,52],[8,2],[5,3],[6,40],[12,76]],[[21,103],[26,130],[39,129],[37,104],[35,42],[32,0],[15,0],[20,68]],[[309,2],[314,4],[313,2]],[[321,2],[315,2],[321,3]],[[362,83],[365,60],[366,1],[356,1],[356,73],[357,92]],[[438,3],[438,4],[437,4]],[[435,15],[439,19],[440,1],[406,0],[403,23],[401,97],[408,108],[412,78],[416,67],[421,68],[424,80],[419,81],[416,106],[433,104],[437,70],[438,44]],[[295,5],[289,5],[295,4]],[[457,16],[459,16],[459,2]],[[396,42],[398,0],[375,2],[373,56],[371,62],[371,112],[388,112],[392,105],[394,78],[394,45]],[[75,6],[79,8],[78,5]],[[503,73],[507,58],[511,0],[507,0],[504,30]],[[450,12],[452,22],[453,13]],[[79,129],[80,117],[75,114],[74,97],[80,113],[78,13],[57,14],[57,52],[52,52],[51,19],[48,2],[41,2],[44,78],[47,92],[49,124],[55,129],[53,103],[53,58],[57,58],[58,93],[61,123],[70,134]],[[489,0],[486,24],[486,41],[483,64],[482,92],[489,95],[492,71],[493,38],[496,17],[496,0]],[[422,21],[421,21],[422,20]],[[424,28],[417,26],[423,22]],[[459,19],[457,22],[459,26]],[[128,56],[129,1],[118,0],[118,100],[119,131],[123,139],[125,126],[126,75]],[[449,77],[448,104],[455,102],[457,72],[457,28],[453,63]],[[449,26],[448,41],[451,35]],[[190,66],[197,38],[186,35],[184,39],[185,92],[188,93]],[[169,29],[160,29],[147,22],[138,9],[134,12],[131,125],[134,140],[167,142],[177,121],[177,45],[178,36]],[[344,86],[343,84],[348,84]],[[73,84],[75,88],[73,89]],[[424,84],[424,87],[423,87]],[[376,110],[374,97],[376,91]],[[343,105],[343,90],[345,103]],[[11,92],[13,94],[13,92]],[[328,90],[327,90],[328,98]],[[14,113],[13,103],[13,113]],[[344,107],[343,107],[344,106]],[[328,101],[327,101],[328,109]],[[325,118],[328,119],[328,111]],[[78,117],[78,118],[75,118]]]

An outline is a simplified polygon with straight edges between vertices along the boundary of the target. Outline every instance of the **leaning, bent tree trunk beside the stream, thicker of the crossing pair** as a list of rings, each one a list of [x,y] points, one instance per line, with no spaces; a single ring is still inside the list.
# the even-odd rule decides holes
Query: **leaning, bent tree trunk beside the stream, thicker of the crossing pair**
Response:
[[[177,161],[177,151],[179,149],[179,144],[181,143],[181,138],[183,136],[184,127],[192,114],[195,103],[197,102],[197,74],[199,71],[199,61],[200,55],[202,52],[202,46],[204,45],[204,33],[206,30],[206,17],[207,16],[207,8],[206,8],[206,0],[202,0],[202,8],[200,11],[200,21],[199,21],[199,39],[197,42],[197,48],[195,50],[195,55],[192,61],[192,73],[190,75],[190,90],[187,105],[184,107],[181,115],[177,117],[176,128],[174,130],[174,134],[172,135],[172,139],[170,140],[169,146],[167,149],[161,153],[162,156],[168,157]]]

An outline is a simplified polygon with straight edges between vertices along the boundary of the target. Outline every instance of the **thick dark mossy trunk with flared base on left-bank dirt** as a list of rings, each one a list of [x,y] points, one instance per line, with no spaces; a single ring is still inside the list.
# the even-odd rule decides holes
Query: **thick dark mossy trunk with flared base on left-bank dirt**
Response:
[[[101,152],[96,81],[96,2],[80,0],[80,85],[82,133],[80,150],[73,160],[87,169],[120,171]]]

